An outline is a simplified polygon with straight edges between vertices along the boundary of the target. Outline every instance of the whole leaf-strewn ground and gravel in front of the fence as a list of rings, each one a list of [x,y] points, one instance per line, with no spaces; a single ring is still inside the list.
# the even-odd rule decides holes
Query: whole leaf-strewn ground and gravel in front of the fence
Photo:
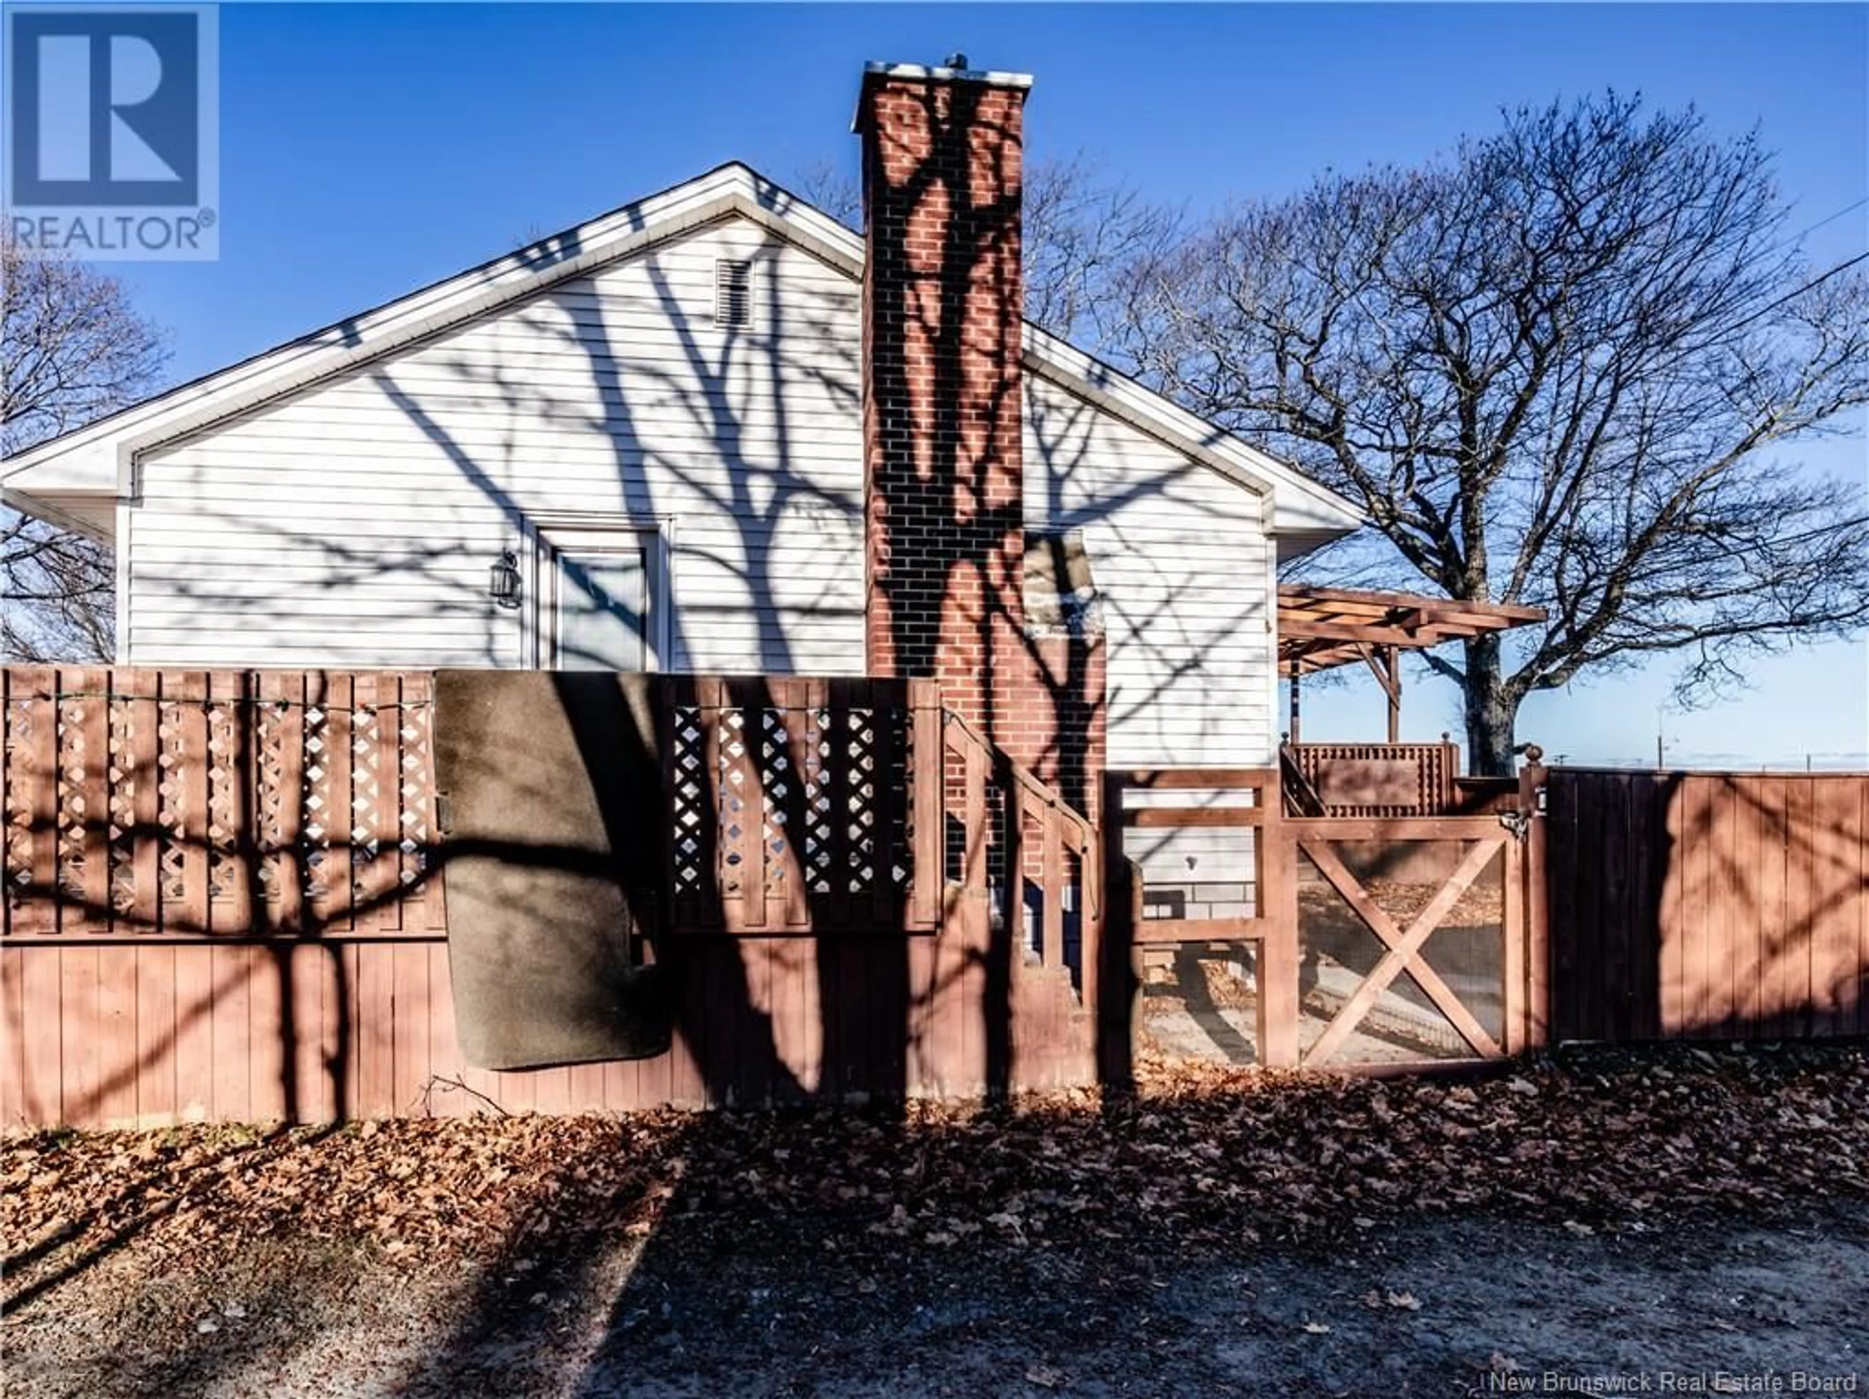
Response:
[[[1856,1048],[37,1139],[0,1152],[6,1393],[1862,1393],[1865,1109]]]

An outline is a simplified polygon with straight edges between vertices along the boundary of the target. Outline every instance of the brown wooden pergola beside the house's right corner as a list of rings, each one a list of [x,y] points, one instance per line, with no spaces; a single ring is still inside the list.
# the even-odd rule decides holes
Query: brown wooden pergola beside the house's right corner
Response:
[[[1477,603],[1415,592],[1278,585],[1278,672],[1291,682],[1291,742],[1299,742],[1299,682],[1363,661],[1389,695],[1389,742],[1402,742],[1402,652],[1510,631],[1544,620],[1542,607]]]

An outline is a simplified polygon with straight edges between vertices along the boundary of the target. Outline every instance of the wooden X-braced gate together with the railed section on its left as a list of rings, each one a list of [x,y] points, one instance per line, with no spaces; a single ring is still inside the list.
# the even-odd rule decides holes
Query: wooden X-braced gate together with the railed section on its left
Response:
[[[1138,1057],[1338,1068],[1540,1044],[1534,792],[1477,816],[1297,818],[1275,771],[1112,773]]]

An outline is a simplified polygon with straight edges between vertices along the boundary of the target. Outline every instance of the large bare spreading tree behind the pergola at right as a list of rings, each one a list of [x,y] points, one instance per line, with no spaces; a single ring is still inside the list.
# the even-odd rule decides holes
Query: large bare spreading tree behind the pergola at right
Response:
[[[1533,691],[1684,652],[1691,699],[1869,620],[1863,484],[1787,456],[1869,402],[1869,284],[1787,237],[1755,136],[1615,93],[1510,112],[1234,209],[1131,312],[1134,366],[1370,514],[1364,577],[1549,609],[1430,657],[1478,771]]]

